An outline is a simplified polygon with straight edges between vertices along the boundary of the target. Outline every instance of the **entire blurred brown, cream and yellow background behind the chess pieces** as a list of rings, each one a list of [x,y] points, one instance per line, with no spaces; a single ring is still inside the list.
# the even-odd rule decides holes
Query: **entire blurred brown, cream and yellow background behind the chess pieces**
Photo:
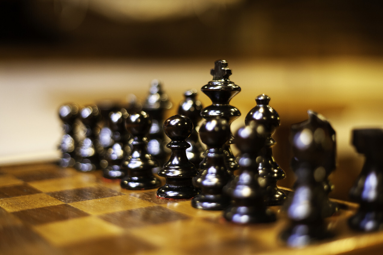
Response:
[[[348,199],[363,165],[354,127],[383,124],[381,2],[280,0],[3,0],[0,2],[0,164],[54,160],[59,105],[143,100],[158,78],[175,107],[225,59],[242,88],[235,131],[270,96],[280,115],[274,155],[291,187],[290,125],[307,110],[337,132],[336,185]],[[207,96],[200,93],[205,106]]]

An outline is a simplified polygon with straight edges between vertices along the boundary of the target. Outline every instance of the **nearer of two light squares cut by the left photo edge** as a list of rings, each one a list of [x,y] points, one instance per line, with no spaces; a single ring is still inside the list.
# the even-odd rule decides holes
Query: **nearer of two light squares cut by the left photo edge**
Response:
[[[26,209],[52,206],[56,204],[64,203],[56,198],[52,198],[51,196],[45,193],[37,193],[25,196],[14,196],[12,198],[0,199],[0,206],[4,208],[7,212],[16,212]]]

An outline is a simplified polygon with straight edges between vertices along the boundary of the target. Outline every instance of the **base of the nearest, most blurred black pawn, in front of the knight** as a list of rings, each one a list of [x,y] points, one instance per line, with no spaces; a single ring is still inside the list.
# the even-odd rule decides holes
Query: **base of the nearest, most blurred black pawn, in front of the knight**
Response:
[[[281,233],[281,239],[290,247],[303,247],[333,236],[334,234],[327,230],[323,222],[291,224]]]

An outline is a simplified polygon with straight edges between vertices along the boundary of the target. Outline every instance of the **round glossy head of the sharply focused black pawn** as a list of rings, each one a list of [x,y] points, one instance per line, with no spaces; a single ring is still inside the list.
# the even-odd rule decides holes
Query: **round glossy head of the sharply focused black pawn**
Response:
[[[170,139],[182,141],[190,136],[193,123],[188,117],[177,114],[165,120],[164,131]]]

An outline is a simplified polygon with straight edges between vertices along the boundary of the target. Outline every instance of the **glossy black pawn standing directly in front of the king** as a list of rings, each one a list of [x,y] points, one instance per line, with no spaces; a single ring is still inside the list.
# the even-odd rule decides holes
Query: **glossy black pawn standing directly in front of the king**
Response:
[[[200,127],[201,141],[207,145],[204,168],[193,178],[201,191],[191,200],[195,208],[223,210],[230,199],[222,189],[231,179],[225,164],[223,145],[230,139],[230,126],[226,119],[216,117],[204,121]]]

